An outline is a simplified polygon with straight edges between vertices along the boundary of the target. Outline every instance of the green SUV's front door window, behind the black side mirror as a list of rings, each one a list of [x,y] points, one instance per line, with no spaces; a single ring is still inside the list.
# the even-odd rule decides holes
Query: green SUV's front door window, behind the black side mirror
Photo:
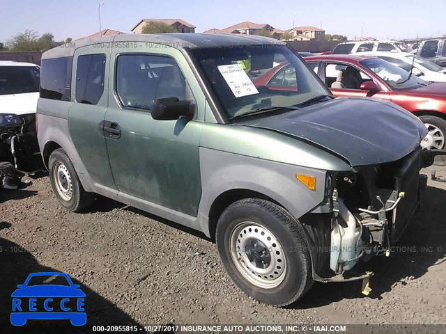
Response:
[[[116,65],[116,93],[123,106],[150,110],[153,100],[186,100],[186,80],[174,59],[146,54],[123,54]],[[190,98],[190,96],[188,96]]]

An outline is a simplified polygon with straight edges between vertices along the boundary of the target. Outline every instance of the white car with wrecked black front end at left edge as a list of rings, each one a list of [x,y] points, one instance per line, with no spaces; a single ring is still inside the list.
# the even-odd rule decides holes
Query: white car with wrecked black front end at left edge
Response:
[[[0,61],[0,161],[24,173],[43,169],[36,134],[39,87],[38,65]]]

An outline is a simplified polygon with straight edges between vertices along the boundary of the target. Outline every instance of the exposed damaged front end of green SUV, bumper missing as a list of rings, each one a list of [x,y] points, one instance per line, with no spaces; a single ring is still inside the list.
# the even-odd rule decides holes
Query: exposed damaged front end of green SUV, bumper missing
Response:
[[[314,278],[322,282],[367,280],[371,273],[351,269],[376,255],[390,255],[392,244],[420,204],[420,190],[426,187],[427,176],[420,175],[420,169],[430,166],[433,156],[444,154],[417,148],[398,161],[330,173],[330,195],[316,209],[325,212],[325,233],[318,238],[319,246],[325,239],[323,244],[330,247],[318,247]],[[363,288],[367,294],[368,287]]]

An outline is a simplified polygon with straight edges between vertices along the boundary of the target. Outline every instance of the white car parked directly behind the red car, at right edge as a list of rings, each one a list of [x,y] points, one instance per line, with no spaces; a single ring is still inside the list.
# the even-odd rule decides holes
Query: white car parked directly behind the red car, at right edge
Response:
[[[407,52],[399,52],[399,53],[389,53],[389,52],[364,52],[361,55],[364,56],[376,56],[381,58],[389,63],[397,65],[401,67],[403,70],[410,72],[410,67],[413,70],[412,74],[420,77],[424,81],[437,81],[437,82],[446,82],[446,68],[437,65],[436,63],[432,63],[431,61],[426,61],[419,56],[415,56],[414,54],[408,54]],[[413,57],[415,56],[415,61]]]

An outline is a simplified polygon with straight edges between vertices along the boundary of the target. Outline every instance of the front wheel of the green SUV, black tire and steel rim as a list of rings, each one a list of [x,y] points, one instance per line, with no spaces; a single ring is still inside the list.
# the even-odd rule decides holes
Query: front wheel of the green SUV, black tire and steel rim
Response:
[[[251,254],[257,252],[258,248],[254,248],[255,251],[252,253],[251,250],[247,250],[248,248],[244,248],[245,251],[242,253],[240,253],[240,250],[233,249],[233,255],[231,255],[231,243],[240,243],[240,239],[243,239],[245,236],[243,233],[245,232],[244,224],[246,223],[244,222],[249,222],[249,224],[254,223],[254,227],[257,225],[259,226],[259,231],[254,229],[256,234],[249,230],[249,235],[260,237],[259,233],[261,233],[262,237],[260,238],[263,238],[262,240],[264,241],[265,234],[263,231],[266,230],[267,233],[270,232],[270,234],[272,234],[272,240],[277,241],[282,253],[284,253],[283,256],[285,260],[285,268],[283,269],[279,278],[276,279],[272,278],[273,276],[264,276],[266,280],[263,280],[261,276],[257,275],[259,272],[254,273],[254,271],[256,271],[255,268],[253,269],[253,267],[248,267],[249,265],[254,266],[255,262],[254,264],[253,262],[249,264],[241,260],[237,260],[243,259],[243,252],[246,253],[247,256],[251,256]],[[249,229],[249,227],[250,226],[248,225],[247,228]],[[239,233],[240,239],[238,239]],[[217,249],[220,253],[220,258],[224,268],[236,285],[240,287],[240,289],[261,303],[275,306],[285,306],[300,299],[300,297],[302,297],[314,283],[312,279],[312,264],[309,256],[309,250],[304,238],[302,237],[303,233],[302,225],[300,225],[298,221],[296,221],[288,212],[286,212],[285,209],[279,207],[279,205],[275,205],[272,202],[258,198],[246,198],[234,202],[224,210],[217,223],[215,239],[217,241]],[[251,237],[245,237],[243,240],[254,240],[254,246],[256,246],[257,241],[259,240],[257,240],[256,237],[254,237],[254,239],[249,238]],[[235,241],[236,239],[238,240]],[[262,244],[263,241],[261,241],[261,247],[267,246],[266,243]],[[252,241],[243,242],[247,242],[248,245],[252,245]],[[245,247],[243,242],[240,244],[242,245],[240,249]],[[272,256],[275,256],[273,253],[279,252],[275,251],[277,248],[271,248],[270,245],[268,246],[269,248],[263,248],[263,250],[268,249],[268,256],[271,256],[272,259]],[[275,247],[277,245],[272,244],[272,246]],[[259,253],[257,252],[257,254]],[[237,259],[234,259],[233,257],[236,257]],[[276,262],[274,263],[277,264],[278,260],[276,259],[275,261]],[[263,265],[267,265],[266,269],[268,269],[270,265],[274,266],[275,264],[273,264],[273,260],[271,260],[270,264]],[[244,266],[247,268],[247,271],[245,271]],[[280,269],[280,267],[277,268]],[[264,267],[259,270],[262,269],[264,269]],[[249,276],[250,273],[248,271],[252,271],[252,277]],[[275,279],[277,282],[274,284],[277,285],[262,287],[261,285],[263,283],[253,283],[253,280],[258,279],[254,276],[259,276],[260,280],[265,281],[264,284],[269,284],[267,283],[269,279]]]

